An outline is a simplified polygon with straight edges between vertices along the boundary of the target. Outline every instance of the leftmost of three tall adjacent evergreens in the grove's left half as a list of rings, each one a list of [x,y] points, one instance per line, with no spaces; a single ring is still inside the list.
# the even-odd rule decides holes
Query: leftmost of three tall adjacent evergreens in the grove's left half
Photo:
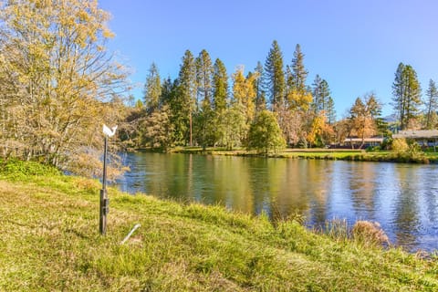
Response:
[[[190,50],[186,50],[184,53],[178,82],[178,96],[181,102],[181,110],[178,114],[181,115],[181,120],[186,120],[186,127],[188,129],[188,132],[184,133],[184,140],[186,144],[193,146],[193,114],[195,113],[196,103],[196,66],[193,54]]]

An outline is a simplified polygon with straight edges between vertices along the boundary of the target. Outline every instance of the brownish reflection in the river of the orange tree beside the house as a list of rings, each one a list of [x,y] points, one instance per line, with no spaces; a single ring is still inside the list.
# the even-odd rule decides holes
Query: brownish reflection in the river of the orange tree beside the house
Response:
[[[369,162],[351,162],[349,190],[357,219],[375,218],[376,167]]]

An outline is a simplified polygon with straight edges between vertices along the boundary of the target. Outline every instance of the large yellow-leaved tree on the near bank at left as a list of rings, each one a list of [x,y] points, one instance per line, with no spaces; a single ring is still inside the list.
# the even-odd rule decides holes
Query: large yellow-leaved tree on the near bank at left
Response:
[[[101,125],[120,118],[113,101],[127,86],[105,48],[109,18],[97,1],[0,3],[4,155],[14,141],[17,155],[67,168],[101,145]]]

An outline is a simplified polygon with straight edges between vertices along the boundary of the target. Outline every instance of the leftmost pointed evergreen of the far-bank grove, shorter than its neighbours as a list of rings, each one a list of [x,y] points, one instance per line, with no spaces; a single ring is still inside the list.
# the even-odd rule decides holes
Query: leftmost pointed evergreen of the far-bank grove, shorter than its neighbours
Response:
[[[159,70],[155,63],[152,63],[151,68],[149,68],[148,76],[146,77],[146,83],[144,84],[143,97],[146,110],[150,113],[160,107],[160,99],[162,96],[161,83]]]

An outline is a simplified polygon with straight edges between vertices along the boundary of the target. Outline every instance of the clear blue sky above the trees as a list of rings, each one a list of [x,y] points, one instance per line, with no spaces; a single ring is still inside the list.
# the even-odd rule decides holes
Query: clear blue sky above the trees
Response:
[[[228,74],[265,63],[272,41],[290,64],[299,43],[308,85],[317,74],[328,81],[338,118],[358,96],[373,91],[391,114],[391,84],[400,62],[412,65],[427,89],[438,82],[436,0],[106,0],[109,43],[132,68],[141,98],[152,62],[162,78],[176,78],[183,53],[205,48],[221,58]]]

